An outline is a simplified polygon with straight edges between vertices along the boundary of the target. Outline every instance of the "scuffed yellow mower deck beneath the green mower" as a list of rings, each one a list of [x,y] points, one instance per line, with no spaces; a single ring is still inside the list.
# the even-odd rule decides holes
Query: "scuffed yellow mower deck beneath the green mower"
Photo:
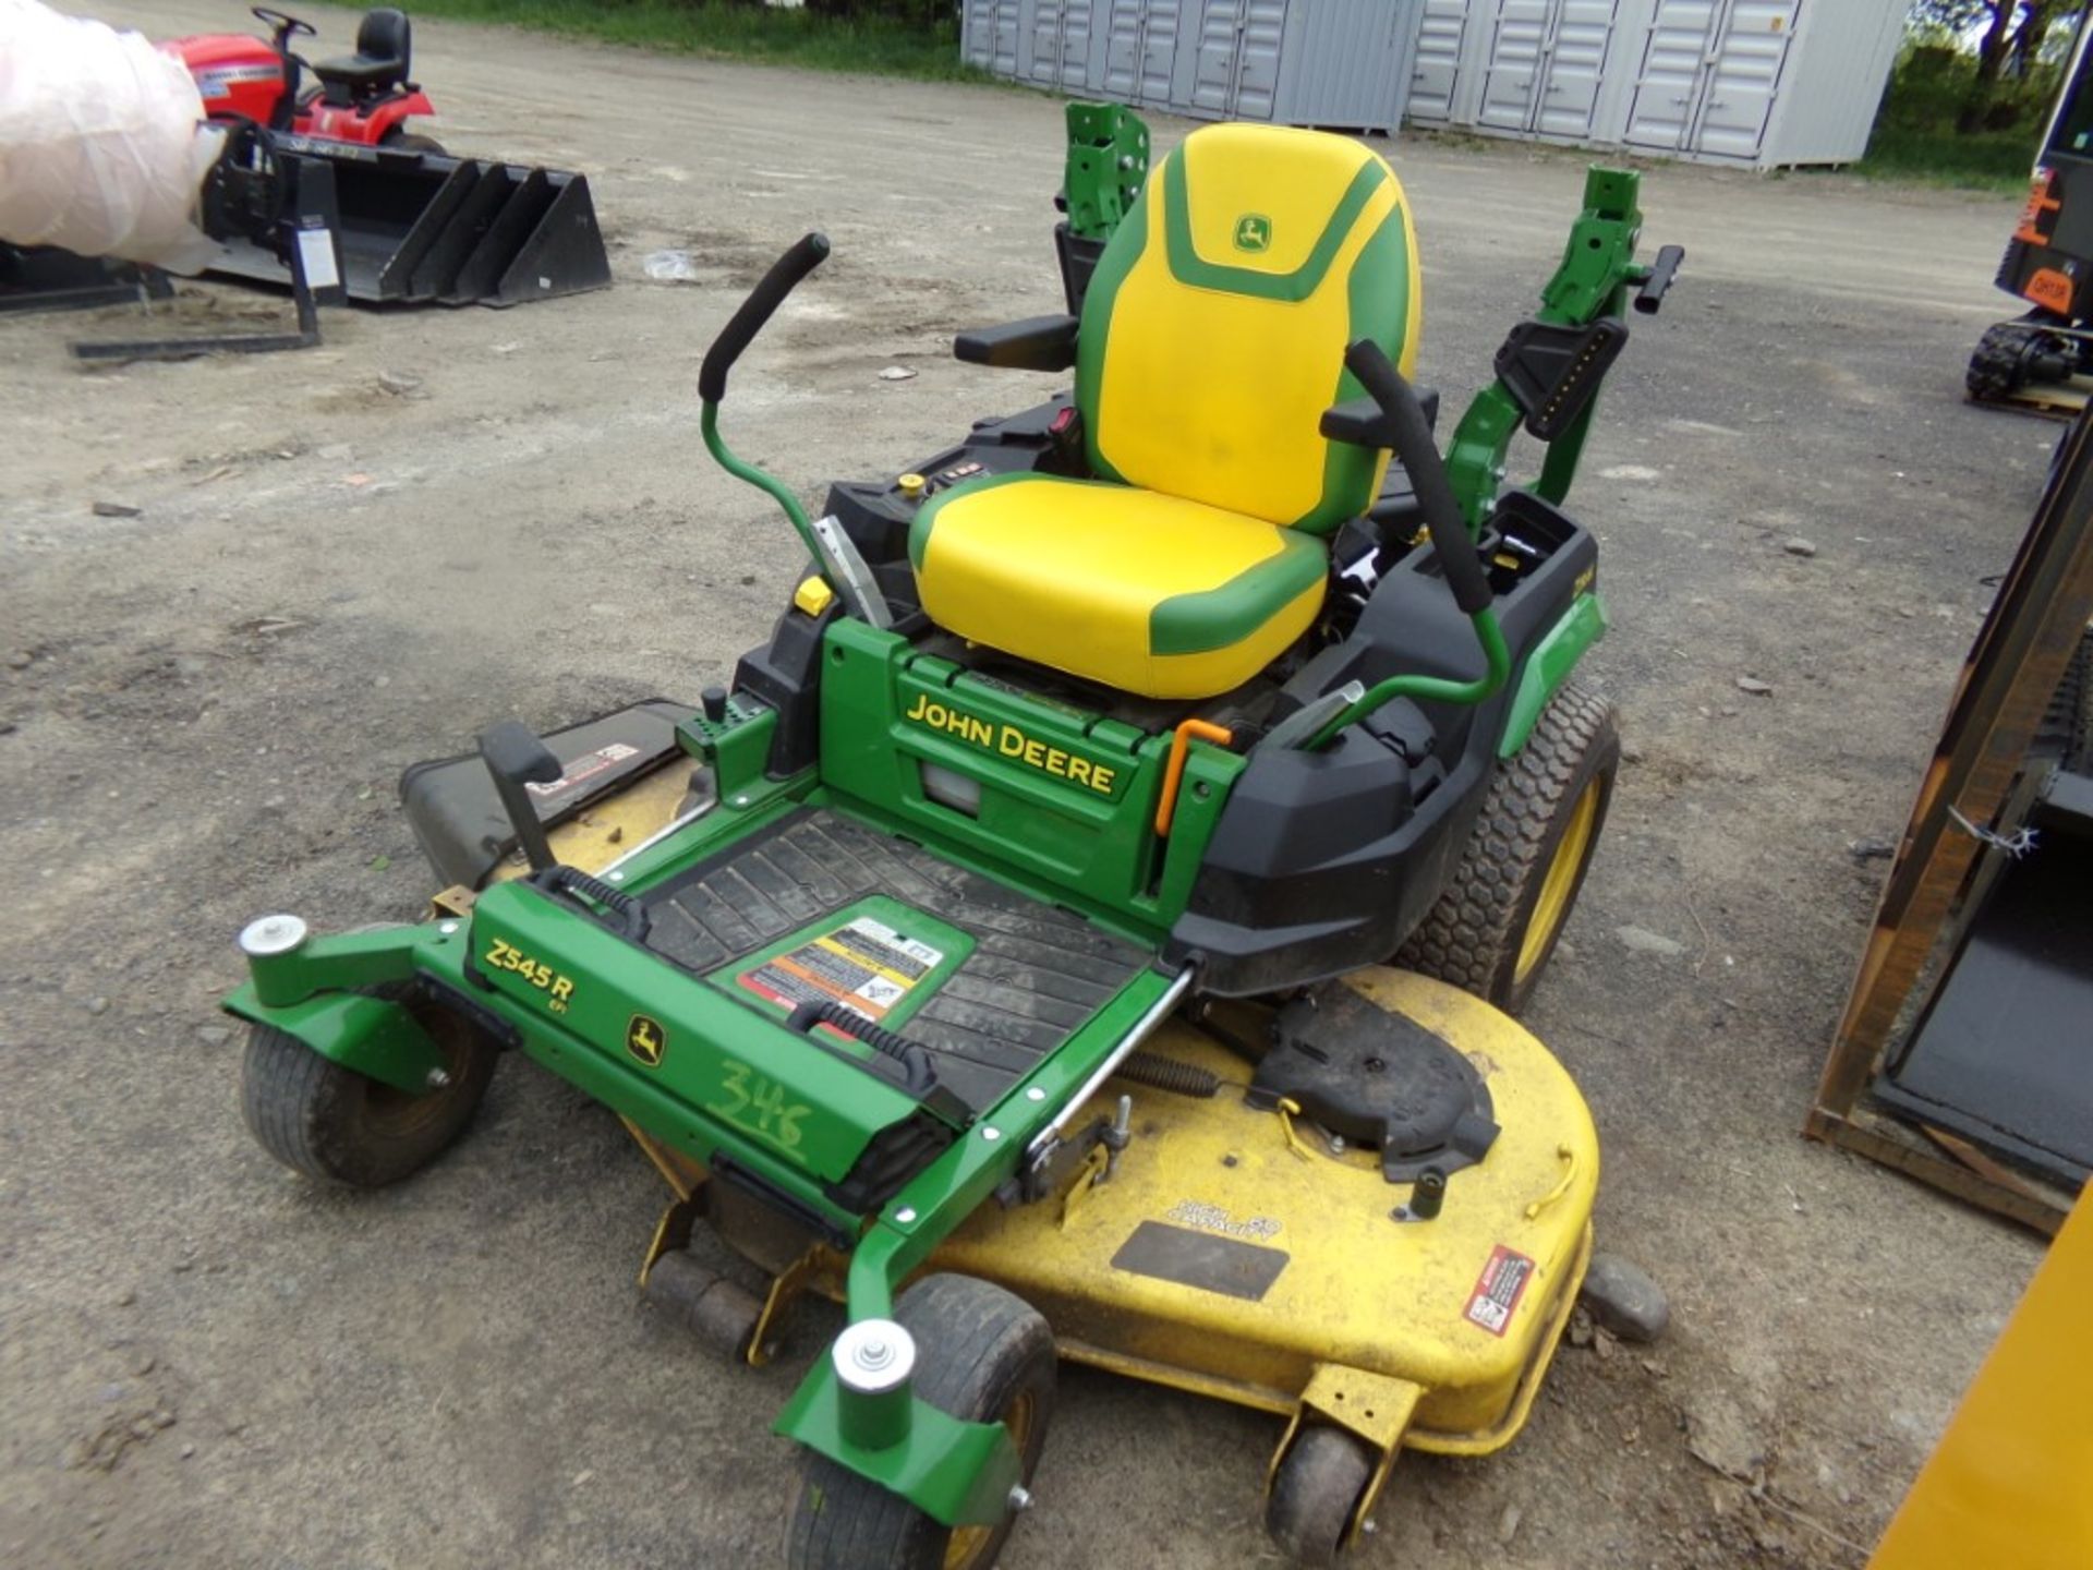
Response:
[[[555,831],[561,858],[594,871],[668,823],[676,772]],[[986,1204],[923,1269],[1015,1292],[1065,1359],[1285,1417],[1275,1472],[1304,1423],[1356,1434],[1377,1457],[1356,1532],[1402,1446],[1488,1455],[1526,1423],[1591,1260],[1599,1139],[1570,1074],[1511,1017],[1409,971],[1346,984],[1453,1042],[1488,1084],[1503,1132],[1446,1181],[1438,1216],[1396,1216],[1411,1185],[1388,1183],[1375,1151],[1245,1105],[1250,1063],[1178,1017],[1145,1051],[1212,1072],[1216,1097],[1109,1080],[1093,1112],[1132,1097],[1109,1176],[1097,1149],[1059,1197]],[[703,1168],[626,1126],[676,1193],[643,1283],[710,1210],[772,1275],[751,1363],[802,1292],[841,1300],[839,1254],[800,1252],[730,1191],[701,1195]]]

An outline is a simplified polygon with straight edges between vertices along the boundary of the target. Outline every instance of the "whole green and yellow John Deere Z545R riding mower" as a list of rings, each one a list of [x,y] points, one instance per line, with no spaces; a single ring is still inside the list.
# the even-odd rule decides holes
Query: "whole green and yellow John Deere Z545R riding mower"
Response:
[[[992,1564],[1057,1354],[1281,1419],[1268,1524],[1325,1564],[1398,1449],[1520,1430],[1591,1252],[1591,1118],[1492,1005],[1605,816],[1597,546],[1555,502],[1679,251],[1637,266],[1637,180],[1593,170],[1442,458],[1379,155],[1214,126],[1145,178],[1130,117],[1074,126],[1076,310],[959,339],[1074,391],[808,517],[720,435],[802,239],[699,379],[808,555],[770,643],[695,710],[410,770],[435,915],[264,917],[226,1005],[301,1172],[406,1176],[517,1049],[668,1179],[651,1296],[749,1363],[841,1300],[777,1419],[793,1566]],[[1501,492],[1520,425],[1551,456]]]

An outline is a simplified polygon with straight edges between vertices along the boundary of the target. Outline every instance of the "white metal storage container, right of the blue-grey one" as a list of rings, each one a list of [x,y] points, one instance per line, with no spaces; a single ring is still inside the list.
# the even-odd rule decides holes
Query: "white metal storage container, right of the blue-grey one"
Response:
[[[1771,170],[1850,163],[1909,0],[1423,0],[1411,117]]]

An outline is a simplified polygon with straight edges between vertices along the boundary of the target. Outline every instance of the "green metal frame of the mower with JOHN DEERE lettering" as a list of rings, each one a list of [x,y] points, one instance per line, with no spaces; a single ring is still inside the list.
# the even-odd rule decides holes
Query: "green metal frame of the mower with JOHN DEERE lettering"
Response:
[[[1086,268],[1070,268],[1070,257],[1095,262],[1139,193],[1147,132],[1126,111],[1074,105],[1070,153],[1070,222],[1059,241],[1076,299]],[[1417,408],[1400,377],[1386,360],[1350,362],[1373,406],[1348,406],[1348,419],[1386,421],[1373,429],[1396,433],[1425,513],[1417,542],[1430,534],[1446,557],[1453,517],[1467,532],[1465,553],[1455,555],[1476,561],[1473,542],[1499,511],[1520,429],[1549,444],[1532,492],[1549,502],[1568,494],[1630,295],[1653,312],[1681,260],[1666,247],[1653,266],[1637,264],[1639,232],[1637,176],[1591,170],[1540,310],[1507,339],[1499,377],[1459,421],[1444,471],[1400,431],[1402,410]],[[705,800],[594,873],[534,850],[542,829],[525,787],[557,777],[559,764],[534,737],[490,733],[483,754],[534,862],[530,875],[490,883],[469,906],[414,925],[312,936],[295,917],[264,917],[241,936],[251,980],[224,1007],[404,1097],[442,1095],[467,1072],[458,1045],[431,1030],[435,1009],[469,1026],[479,1042],[471,1051],[521,1051],[661,1147],[848,1254],[848,1346],[814,1361],[777,1432],[936,1522],[988,1526],[1026,1503],[1017,1444],[1003,1423],[965,1421],[910,1388],[908,1356],[894,1359],[885,1338],[896,1296],[998,1189],[1007,1197],[1028,1176],[1044,1181],[1097,1143],[1095,1128],[1086,1143],[1076,1126],[1086,1103],[1199,982],[1201,955],[1174,952],[1172,929],[1250,760],[1199,731],[1151,728],[971,680],[961,661],[867,613],[864,563],[837,548],[791,488],[730,452],[718,425],[726,366],[825,253],[827,243],[808,237],[781,260],[722,331],[701,381],[707,450],[779,502],[810,557],[781,643],[789,632],[818,666],[818,714],[766,701],[751,680],[733,695],[707,695],[674,731],[680,756],[710,777]],[[1459,578],[1453,565],[1448,580]],[[1509,582],[1524,563],[1482,561],[1478,569]],[[1605,630],[1605,613],[1586,569],[1561,613],[1513,649],[1501,628],[1501,590],[1482,592],[1488,603],[1467,615],[1480,670],[1463,657],[1465,674],[1354,682],[1302,705],[1287,745],[1344,747],[1398,699],[1478,705],[1509,685],[1490,747],[1515,758]],[[973,810],[927,798],[925,770],[977,781]],[[992,1103],[967,1107],[933,1076],[925,1089],[906,1040],[915,1005],[973,942],[940,927],[936,909],[925,927],[923,911],[879,894],[837,906],[841,917],[890,925],[906,915],[936,955],[923,984],[883,1015],[883,1030],[751,1017],[739,978],[800,934],[774,934],[707,973],[678,969],[640,942],[651,896],[808,810],[921,844],[952,869],[1080,915],[1101,942],[1155,959],[1136,965]]]

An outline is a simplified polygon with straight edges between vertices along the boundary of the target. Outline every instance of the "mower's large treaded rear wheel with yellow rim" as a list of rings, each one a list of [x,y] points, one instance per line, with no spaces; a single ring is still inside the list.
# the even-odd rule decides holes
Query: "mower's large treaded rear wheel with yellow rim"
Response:
[[[1563,682],[1526,745],[1496,766],[1453,877],[1394,963],[1505,1013],[1524,1009],[1584,888],[1618,772],[1614,705]],[[1557,873],[1557,850],[1572,829],[1566,854],[1576,862]],[[1551,875],[1566,881],[1551,883]]]

